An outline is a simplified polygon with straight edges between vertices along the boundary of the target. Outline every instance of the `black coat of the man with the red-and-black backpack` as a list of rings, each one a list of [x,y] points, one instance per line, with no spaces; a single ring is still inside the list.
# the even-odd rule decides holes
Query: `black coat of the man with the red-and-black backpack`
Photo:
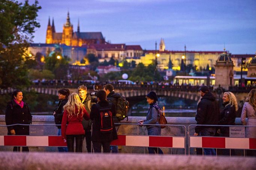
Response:
[[[105,101],[99,101],[97,105],[101,107],[106,107],[109,106],[111,107],[111,112],[114,115],[116,115],[116,107],[113,104],[110,104]],[[113,131],[108,134],[102,134],[100,129],[101,129],[101,118],[100,118],[100,111],[98,109],[96,104],[92,105],[92,110],[90,113],[90,119],[93,121],[92,125],[92,138],[91,140],[93,142],[111,142],[112,140],[117,139],[117,133],[116,133],[116,128],[114,128],[114,122],[113,122]]]

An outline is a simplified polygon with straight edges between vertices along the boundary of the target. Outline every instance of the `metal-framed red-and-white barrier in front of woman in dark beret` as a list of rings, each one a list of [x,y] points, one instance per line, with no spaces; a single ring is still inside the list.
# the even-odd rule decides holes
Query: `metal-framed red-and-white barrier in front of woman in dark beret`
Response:
[[[117,146],[138,146],[138,147],[154,147],[154,148],[177,148],[184,149],[186,154],[186,127],[184,125],[166,125],[182,127],[184,136],[146,136],[139,135],[139,126],[141,124],[120,123],[118,125],[136,125],[137,135],[119,134],[117,140],[113,140],[110,145]],[[172,151],[171,151],[172,152]]]

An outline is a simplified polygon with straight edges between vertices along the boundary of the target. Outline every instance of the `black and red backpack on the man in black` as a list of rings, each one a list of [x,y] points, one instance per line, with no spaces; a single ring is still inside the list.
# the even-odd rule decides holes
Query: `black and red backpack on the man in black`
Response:
[[[101,107],[99,104],[97,104],[99,108],[99,116],[100,116],[100,124],[101,124],[101,133],[111,133],[113,131],[113,115],[111,112],[111,107]]]

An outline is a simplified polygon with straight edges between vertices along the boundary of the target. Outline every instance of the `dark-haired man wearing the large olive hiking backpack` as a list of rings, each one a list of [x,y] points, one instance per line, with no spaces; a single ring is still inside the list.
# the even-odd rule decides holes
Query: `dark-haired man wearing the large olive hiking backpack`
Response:
[[[114,92],[114,87],[111,84],[106,84],[103,86],[104,91],[107,94],[107,100],[109,103],[113,103],[117,107],[117,99],[121,97],[119,93]],[[120,123],[116,116],[113,117],[114,123]],[[116,131],[118,131],[119,125],[116,126]],[[110,150],[112,153],[118,153],[118,146],[111,146]]]

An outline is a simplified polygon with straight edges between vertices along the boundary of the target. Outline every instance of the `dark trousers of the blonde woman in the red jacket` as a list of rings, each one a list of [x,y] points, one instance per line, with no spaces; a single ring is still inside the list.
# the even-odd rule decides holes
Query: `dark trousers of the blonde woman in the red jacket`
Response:
[[[83,134],[66,135],[68,152],[74,152],[74,141],[75,141],[75,152],[82,152],[83,146]]]

